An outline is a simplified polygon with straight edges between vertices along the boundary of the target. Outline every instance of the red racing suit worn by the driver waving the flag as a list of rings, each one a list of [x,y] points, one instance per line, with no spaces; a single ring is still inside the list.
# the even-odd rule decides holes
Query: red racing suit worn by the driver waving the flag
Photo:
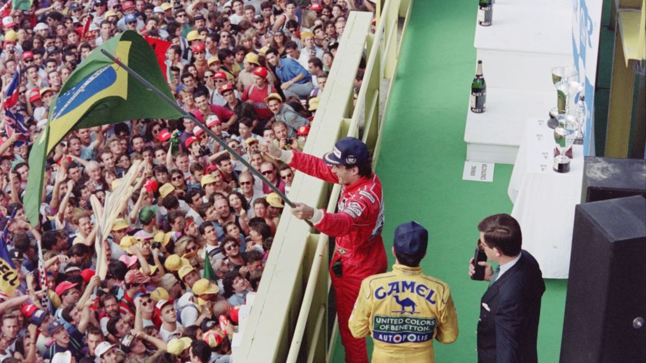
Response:
[[[339,183],[332,168],[316,156],[293,152],[289,166],[326,182]],[[348,320],[362,280],[388,269],[388,258],[381,239],[384,205],[379,178],[373,173],[370,178],[362,177],[351,185],[345,185],[337,209],[337,213],[323,210],[323,218],[314,227],[336,240],[329,272],[337,296],[339,331],[346,351],[346,362],[366,363],[366,339],[352,336]],[[340,278],[331,269],[338,260],[342,268]]]

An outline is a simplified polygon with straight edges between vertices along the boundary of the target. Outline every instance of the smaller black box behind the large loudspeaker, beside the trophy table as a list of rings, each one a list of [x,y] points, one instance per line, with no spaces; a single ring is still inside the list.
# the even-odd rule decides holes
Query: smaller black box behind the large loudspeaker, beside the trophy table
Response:
[[[625,196],[646,198],[646,160],[585,157],[581,203]]]

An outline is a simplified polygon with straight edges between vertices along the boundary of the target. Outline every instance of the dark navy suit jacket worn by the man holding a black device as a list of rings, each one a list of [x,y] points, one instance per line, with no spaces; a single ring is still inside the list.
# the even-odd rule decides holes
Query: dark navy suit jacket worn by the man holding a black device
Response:
[[[480,304],[479,363],[536,363],[536,338],[545,292],[538,263],[527,251],[494,284]],[[488,307],[488,309],[486,307]]]

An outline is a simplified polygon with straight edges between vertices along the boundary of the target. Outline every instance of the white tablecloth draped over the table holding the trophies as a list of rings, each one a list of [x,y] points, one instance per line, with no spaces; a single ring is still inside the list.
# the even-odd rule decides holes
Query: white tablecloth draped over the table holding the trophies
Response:
[[[554,172],[554,130],[545,119],[526,122],[507,189],[512,216],[521,225],[523,249],[534,255],[543,277],[567,278],[574,207],[581,202],[583,147],[574,145],[570,172]]]

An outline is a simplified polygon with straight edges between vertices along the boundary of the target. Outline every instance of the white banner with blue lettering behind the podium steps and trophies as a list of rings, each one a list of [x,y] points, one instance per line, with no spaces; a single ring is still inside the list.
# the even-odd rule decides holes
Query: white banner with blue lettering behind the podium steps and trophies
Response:
[[[583,153],[594,155],[594,84],[597,76],[602,0],[572,0],[572,56],[585,95]]]

